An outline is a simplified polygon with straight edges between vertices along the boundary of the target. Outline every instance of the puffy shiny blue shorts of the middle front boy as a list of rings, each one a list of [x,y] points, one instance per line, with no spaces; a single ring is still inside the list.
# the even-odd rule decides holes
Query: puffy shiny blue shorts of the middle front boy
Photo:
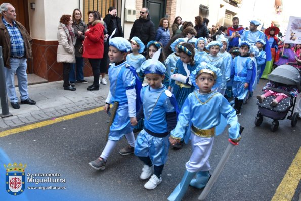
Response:
[[[150,157],[153,165],[164,165],[167,161],[169,140],[166,137],[154,137],[144,129],[137,135],[134,154],[139,157]]]

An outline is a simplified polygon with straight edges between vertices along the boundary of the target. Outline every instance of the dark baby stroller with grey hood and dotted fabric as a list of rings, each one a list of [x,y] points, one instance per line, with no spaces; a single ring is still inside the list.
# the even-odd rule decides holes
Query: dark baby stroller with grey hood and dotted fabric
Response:
[[[301,91],[301,78],[300,71],[288,64],[283,64],[278,66],[275,70],[271,72],[268,76],[270,81],[278,82],[286,85],[296,86],[298,91]],[[277,107],[271,107],[270,103],[275,98],[273,96],[269,96],[264,99],[262,103],[257,102],[258,112],[255,118],[255,125],[260,126],[263,122],[263,117],[269,117],[273,119],[271,125],[271,131],[274,132],[278,129],[279,121],[285,119],[288,112],[291,112],[290,115],[287,116],[287,119],[291,120],[291,126],[295,126],[298,121],[298,112],[293,112],[296,104],[296,97],[291,96],[291,94],[286,91],[275,89],[275,88],[267,88],[269,90],[273,90],[275,92],[284,93],[288,97],[282,99]]]

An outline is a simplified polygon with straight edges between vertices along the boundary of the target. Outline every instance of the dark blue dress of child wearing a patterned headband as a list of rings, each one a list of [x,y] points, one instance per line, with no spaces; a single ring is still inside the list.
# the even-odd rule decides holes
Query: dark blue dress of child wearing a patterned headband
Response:
[[[191,73],[196,69],[197,65],[198,63],[195,63],[193,66],[187,64],[187,69]],[[176,73],[180,73],[182,75],[187,76],[186,71],[184,70],[183,62],[180,59],[176,63],[176,69],[174,74]],[[171,80],[171,79],[170,79],[170,86],[173,87],[172,92],[174,93],[175,98],[178,102],[179,110],[181,110],[181,107],[185,99],[187,98],[188,94],[194,91],[194,86],[191,86],[190,88],[184,88],[184,87],[180,88],[179,85],[175,84],[175,80]]]

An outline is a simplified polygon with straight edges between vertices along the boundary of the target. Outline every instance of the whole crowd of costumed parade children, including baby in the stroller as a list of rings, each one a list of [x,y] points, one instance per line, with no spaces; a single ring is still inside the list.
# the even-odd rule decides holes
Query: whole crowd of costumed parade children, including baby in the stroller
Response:
[[[255,45],[240,41],[239,47],[227,52],[229,41],[223,35],[210,42],[190,34],[188,38],[176,39],[171,44],[174,53],[166,58],[158,41],[148,42],[144,57],[145,46],[138,37],[130,42],[112,38],[110,91],[104,108],[113,118],[102,154],[89,165],[104,170],[117,141],[125,136],[128,145],[119,153],[134,153],[143,162],[140,179],[149,179],[144,187],[152,190],[162,182],[169,145],[181,148],[190,139],[192,154],[186,171],[168,199],[181,200],[188,185],[205,187],[210,177],[208,158],[214,136],[223,131],[217,129],[221,115],[230,125],[229,139],[237,143],[241,138],[237,115],[265,69],[266,44],[261,38],[256,39]],[[130,50],[132,53],[128,54]],[[291,49],[285,44],[280,54],[282,59],[275,64],[291,61],[294,54],[300,59],[300,51],[301,45]],[[257,98],[262,102],[269,95],[273,92],[265,90]],[[271,103],[274,106],[285,98],[283,94],[274,95],[277,95]],[[136,140],[134,126],[140,131]]]

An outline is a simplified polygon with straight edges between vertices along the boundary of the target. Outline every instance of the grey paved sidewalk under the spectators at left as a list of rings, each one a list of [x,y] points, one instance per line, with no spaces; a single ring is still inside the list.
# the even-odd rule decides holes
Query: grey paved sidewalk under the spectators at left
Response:
[[[106,79],[108,84],[100,84],[99,91],[86,89],[93,83],[93,77],[85,77],[88,84],[75,83],[76,91],[65,91],[63,81],[29,85],[29,97],[36,101],[36,105],[20,104],[19,98],[20,109],[13,109],[9,102],[13,116],[0,118],[0,131],[104,106],[110,86],[107,75]],[[16,92],[19,97],[18,88]]]

